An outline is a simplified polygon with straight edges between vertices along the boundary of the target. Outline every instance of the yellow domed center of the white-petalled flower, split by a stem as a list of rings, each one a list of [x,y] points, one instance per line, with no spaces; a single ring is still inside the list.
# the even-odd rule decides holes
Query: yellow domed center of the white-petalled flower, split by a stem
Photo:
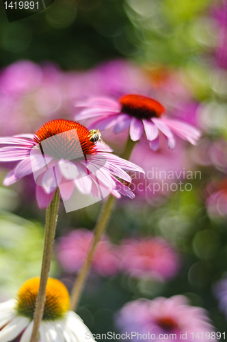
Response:
[[[16,311],[18,315],[34,318],[36,298],[40,286],[40,278],[27,280],[17,294]],[[46,302],[42,319],[60,319],[68,311],[70,297],[65,285],[57,279],[49,278],[46,286]]]

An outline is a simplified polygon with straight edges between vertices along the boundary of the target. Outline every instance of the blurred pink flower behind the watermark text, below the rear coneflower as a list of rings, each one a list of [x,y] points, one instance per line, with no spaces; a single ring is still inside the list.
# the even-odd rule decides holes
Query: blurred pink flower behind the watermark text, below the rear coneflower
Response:
[[[159,205],[166,196],[176,191],[186,191],[185,184],[190,182],[187,176],[191,172],[190,177],[194,177],[194,165],[188,157],[185,142],[178,139],[174,150],[169,150],[165,139],[160,138],[157,151],[150,150],[146,141],[140,141],[133,148],[130,158],[144,170],[144,174],[131,173],[130,188],[140,200],[146,198],[152,205]]]

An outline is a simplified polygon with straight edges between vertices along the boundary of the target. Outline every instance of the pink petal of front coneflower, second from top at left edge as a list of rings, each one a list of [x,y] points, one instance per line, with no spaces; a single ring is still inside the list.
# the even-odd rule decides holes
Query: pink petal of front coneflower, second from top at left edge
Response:
[[[8,146],[0,148],[0,161],[15,161],[25,159],[30,154],[31,148]]]

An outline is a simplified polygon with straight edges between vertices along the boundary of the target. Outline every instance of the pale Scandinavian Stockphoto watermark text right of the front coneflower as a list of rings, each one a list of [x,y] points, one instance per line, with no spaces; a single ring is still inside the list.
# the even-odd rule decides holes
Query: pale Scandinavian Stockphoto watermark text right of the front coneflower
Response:
[[[202,179],[200,170],[187,170],[185,167],[181,170],[160,170],[152,167],[144,174],[131,172],[132,183],[129,185],[132,192],[150,192],[151,194],[168,192],[190,192],[193,189],[191,181]]]

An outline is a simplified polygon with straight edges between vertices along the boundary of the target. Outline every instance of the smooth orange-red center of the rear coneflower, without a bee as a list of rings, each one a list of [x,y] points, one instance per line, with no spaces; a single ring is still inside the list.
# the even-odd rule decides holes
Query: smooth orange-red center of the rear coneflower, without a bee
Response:
[[[140,120],[159,118],[165,112],[161,103],[147,96],[129,94],[122,96],[119,102],[122,112]]]

